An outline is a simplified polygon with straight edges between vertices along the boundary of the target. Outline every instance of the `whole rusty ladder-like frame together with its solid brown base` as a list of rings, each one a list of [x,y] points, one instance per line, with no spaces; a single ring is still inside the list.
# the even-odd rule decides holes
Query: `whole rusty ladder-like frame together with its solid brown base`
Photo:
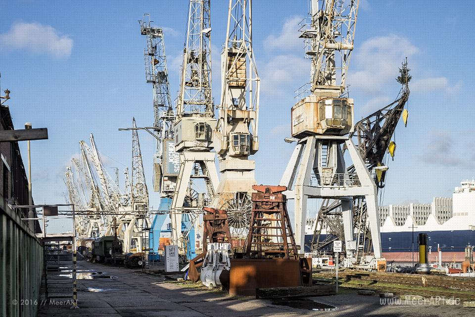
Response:
[[[256,192],[252,193],[249,234],[244,253],[231,260],[230,294],[254,295],[256,288],[311,285],[311,264],[297,254],[283,194],[287,188],[252,188]]]

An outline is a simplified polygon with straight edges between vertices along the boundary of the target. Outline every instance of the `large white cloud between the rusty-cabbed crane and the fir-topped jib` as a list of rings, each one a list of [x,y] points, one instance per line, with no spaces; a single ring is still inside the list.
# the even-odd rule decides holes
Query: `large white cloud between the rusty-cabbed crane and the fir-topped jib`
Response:
[[[395,81],[404,58],[418,52],[408,39],[394,34],[371,38],[352,56],[357,70],[349,72],[347,83],[377,95],[384,84]]]

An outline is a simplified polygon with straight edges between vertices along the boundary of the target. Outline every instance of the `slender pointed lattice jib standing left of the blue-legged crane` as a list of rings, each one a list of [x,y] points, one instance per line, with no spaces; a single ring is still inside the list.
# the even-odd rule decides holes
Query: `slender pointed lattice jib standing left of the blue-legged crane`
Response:
[[[131,198],[133,210],[148,210],[148,189],[143,171],[142,153],[140,150],[139,134],[135,118],[132,119],[132,170],[131,170]],[[138,209],[139,208],[139,209]]]

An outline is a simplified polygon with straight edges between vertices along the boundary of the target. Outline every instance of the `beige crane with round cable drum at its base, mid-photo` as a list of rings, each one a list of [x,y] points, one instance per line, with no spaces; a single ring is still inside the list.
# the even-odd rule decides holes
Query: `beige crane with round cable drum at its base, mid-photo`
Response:
[[[211,206],[227,211],[233,238],[240,242],[247,234],[249,195],[256,184],[255,162],[249,156],[259,149],[259,75],[252,50],[252,0],[229,1],[221,65],[221,105],[214,132],[221,181]]]

